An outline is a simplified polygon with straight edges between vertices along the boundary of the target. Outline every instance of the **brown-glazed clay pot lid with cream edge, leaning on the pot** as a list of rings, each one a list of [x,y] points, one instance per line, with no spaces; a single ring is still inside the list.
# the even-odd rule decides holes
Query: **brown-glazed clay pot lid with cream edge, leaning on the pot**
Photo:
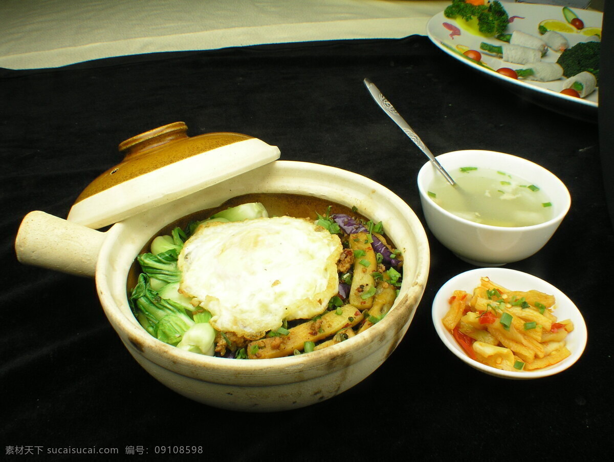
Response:
[[[119,144],[122,162],[98,176],[77,197],[68,220],[93,229],[279,159],[279,149],[240,133],[188,136],[174,122]]]

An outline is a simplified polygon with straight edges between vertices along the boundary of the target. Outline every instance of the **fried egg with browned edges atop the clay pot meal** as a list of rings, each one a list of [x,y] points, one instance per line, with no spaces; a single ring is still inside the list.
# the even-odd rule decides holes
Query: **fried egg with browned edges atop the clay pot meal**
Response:
[[[338,236],[294,217],[209,222],[184,244],[180,291],[211,325],[259,339],[284,319],[322,313],[338,291]]]

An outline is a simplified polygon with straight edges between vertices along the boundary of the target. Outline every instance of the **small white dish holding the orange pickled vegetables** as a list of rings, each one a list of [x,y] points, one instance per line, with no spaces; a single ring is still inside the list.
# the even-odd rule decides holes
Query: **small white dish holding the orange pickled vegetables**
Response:
[[[556,299],[556,308],[553,311],[554,316],[558,319],[571,319],[573,322],[573,331],[567,335],[567,348],[571,351],[571,355],[563,359],[558,364],[553,366],[544,367],[543,369],[527,370],[527,371],[508,371],[495,369],[495,367],[486,366],[481,362],[474,361],[467,356],[461,346],[454,340],[451,332],[443,326],[441,319],[448,312],[449,303],[448,300],[452,296],[455,290],[464,290],[469,293],[473,292],[473,289],[480,284],[480,278],[487,276],[494,283],[501,286],[518,291],[529,291],[535,289],[537,291],[545,292],[546,294],[553,295]],[[585,350],[586,341],[588,339],[588,333],[586,331],[586,323],[582,317],[580,310],[563,292],[559,291],[552,284],[537,278],[536,276],[529,275],[516,270],[510,270],[509,268],[476,268],[457,276],[454,276],[451,280],[443,284],[435,299],[433,300],[432,308],[433,324],[435,331],[439,335],[441,341],[448,347],[457,358],[466,362],[469,366],[475,367],[475,369],[486,372],[486,374],[495,375],[503,378],[513,379],[529,379],[548,377],[549,375],[558,374],[568,367],[572,366]]]

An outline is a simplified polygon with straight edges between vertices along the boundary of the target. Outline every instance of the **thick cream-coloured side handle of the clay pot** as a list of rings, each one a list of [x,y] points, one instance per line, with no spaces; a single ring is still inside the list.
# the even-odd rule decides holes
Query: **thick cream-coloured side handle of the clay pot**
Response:
[[[93,277],[105,234],[41,211],[27,214],[17,232],[17,259],[77,276]]]

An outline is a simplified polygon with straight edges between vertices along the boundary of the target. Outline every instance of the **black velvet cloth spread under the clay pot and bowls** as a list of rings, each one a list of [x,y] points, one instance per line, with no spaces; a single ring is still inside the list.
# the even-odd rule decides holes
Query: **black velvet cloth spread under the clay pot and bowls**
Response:
[[[246,133],[279,146],[282,159],[368,176],[426,227],[416,186],[426,157],[376,106],[365,77],[435,154],[508,152],[565,182],[572,208],[558,232],[535,256],[507,267],[549,281],[580,308],[589,340],[575,366],[513,381],[453,356],[435,333],[431,303],[445,281],[473,267],[429,233],[426,292],[383,366],[310,407],[229,412],[179,396],[141,369],[107,322],[93,280],[17,262],[14,238],[26,213],[66,217],[80,191],[119,162],[117,144],[180,120],[190,135]],[[43,452],[6,460],[596,460],[612,452],[614,235],[598,125],[519,98],[427,37],[3,69],[0,155],[1,451]],[[201,445],[204,454],[156,455],[161,445]],[[47,454],[94,446],[119,454]],[[127,454],[131,448],[137,453]]]

